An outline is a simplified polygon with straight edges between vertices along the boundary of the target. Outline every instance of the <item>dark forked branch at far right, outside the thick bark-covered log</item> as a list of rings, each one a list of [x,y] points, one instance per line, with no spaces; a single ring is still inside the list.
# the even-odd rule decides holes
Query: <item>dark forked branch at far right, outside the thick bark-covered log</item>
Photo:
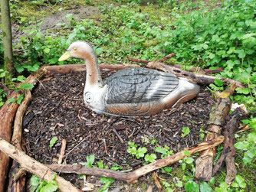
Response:
[[[245,119],[247,112],[241,108],[235,109],[232,113],[232,118],[228,121],[224,130],[224,142],[222,155],[218,158],[215,167],[212,170],[212,176],[214,176],[221,168],[226,164],[227,175],[225,177],[225,183],[230,185],[235,180],[237,171],[235,169],[235,131],[238,129],[241,119]]]

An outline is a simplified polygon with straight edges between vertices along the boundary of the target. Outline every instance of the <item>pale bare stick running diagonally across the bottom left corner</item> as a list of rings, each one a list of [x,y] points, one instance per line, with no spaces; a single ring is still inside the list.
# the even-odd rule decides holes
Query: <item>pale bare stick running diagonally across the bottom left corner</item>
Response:
[[[51,178],[54,177],[54,174],[56,174],[44,164],[35,161],[34,158],[30,158],[24,151],[18,150],[18,148],[15,148],[15,146],[6,142],[2,138],[0,138],[0,149],[5,152],[6,155],[13,158],[15,161],[18,161],[22,168],[25,168],[27,171],[35,174],[44,181],[49,182]],[[64,180],[64,178],[60,176],[56,176],[55,181],[57,181],[58,189],[61,191],[80,191],[77,187],[74,187],[73,184]]]

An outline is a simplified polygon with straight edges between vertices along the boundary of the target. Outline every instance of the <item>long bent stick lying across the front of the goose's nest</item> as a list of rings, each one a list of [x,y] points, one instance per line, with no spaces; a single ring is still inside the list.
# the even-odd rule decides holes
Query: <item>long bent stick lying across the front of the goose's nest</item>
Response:
[[[212,141],[202,142],[198,145],[194,145],[190,148],[185,148],[185,150],[189,151],[190,155],[195,154],[199,151],[214,148],[215,146],[221,144],[224,140],[223,136],[213,139]],[[132,183],[136,181],[137,178],[143,176],[144,174],[148,174],[151,171],[154,171],[159,168],[163,168],[169,164],[173,164],[180,159],[185,158],[185,154],[183,151],[176,153],[175,155],[171,155],[166,158],[159,159],[151,164],[146,164],[142,168],[139,168],[130,173],[123,173],[120,171],[112,171],[108,169],[100,169],[100,168],[86,168],[82,165],[73,165],[73,164],[48,164],[48,168],[51,168],[54,171],[61,171],[61,173],[76,173],[76,174],[90,174],[100,177],[110,177],[113,179],[117,179],[120,181],[126,181],[128,183]]]

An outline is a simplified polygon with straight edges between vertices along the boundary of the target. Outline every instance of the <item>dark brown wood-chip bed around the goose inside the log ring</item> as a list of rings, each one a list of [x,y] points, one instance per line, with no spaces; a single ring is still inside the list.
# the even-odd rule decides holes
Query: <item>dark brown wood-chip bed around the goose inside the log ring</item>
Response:
[[[103,79],[108,75],[110,72],[103,72]],[[38,83],[25,115],[27,125],[23,139],[29,156],[44,164],[56,163],[64,138],[67,140],[65,154],[68,155],[64,158],[67,164],[85,162],[88,155],[95,155],[96,161],[103,160],[109,167],[118,164],[123,170],[134,170],[142,166],[144,160],[127,152],[128,142],[146,147],[147,154],[154,153],[157,158],[160,158],[154,151],[157,146],[167,145],[176,152],[202,142],[199,131],[205,129],[214,103],[211,93],[204,88],[195,99],[156,116],[114,117],[97,115],[84,105],[85,76],[86,73],[55,74]],[[183,138],[185,126],[189,127],[190,134]],[[54,136],[58,140],[50,148]],[[76,174],[64,177],[77,187],[83,187],[83,180]],[[99,181],[95,178],[91,181],[92,178],[88,178],[89,182]],[[150,181],[150,176],[139,180]]]

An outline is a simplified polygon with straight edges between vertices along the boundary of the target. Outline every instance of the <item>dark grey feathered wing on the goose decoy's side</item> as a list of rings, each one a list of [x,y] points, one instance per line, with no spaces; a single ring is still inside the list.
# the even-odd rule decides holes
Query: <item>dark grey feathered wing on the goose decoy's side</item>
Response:
[[[156,101],[176,89],[179,79],[171,73],[143,68],[117,71],[105,80],[107,104]]]

